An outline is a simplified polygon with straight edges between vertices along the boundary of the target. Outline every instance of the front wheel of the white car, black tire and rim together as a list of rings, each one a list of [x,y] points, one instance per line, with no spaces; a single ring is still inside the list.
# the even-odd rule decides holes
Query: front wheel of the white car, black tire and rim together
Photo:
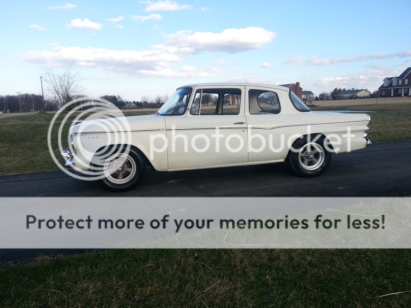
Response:
[[[106,177],[98,180],[101,186],[110,191],[128,191],[140,184],[143,179],[145,157],[134,148],[118,149],[106,158],[103,170]]]

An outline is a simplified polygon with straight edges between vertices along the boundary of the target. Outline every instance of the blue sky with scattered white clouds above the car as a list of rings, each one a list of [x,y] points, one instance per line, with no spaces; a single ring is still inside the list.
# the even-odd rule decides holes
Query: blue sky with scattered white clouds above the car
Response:
[[[0,1],[0,94],[72,62],[85,94],[137,101],[209,82],[373,91],[411,67],[409,0],[70,1]]]

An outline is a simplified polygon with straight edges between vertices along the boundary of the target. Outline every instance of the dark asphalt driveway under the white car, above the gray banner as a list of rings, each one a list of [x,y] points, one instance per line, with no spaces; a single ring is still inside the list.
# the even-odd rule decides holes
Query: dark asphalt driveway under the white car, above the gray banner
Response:
[[[332,156],[320,177],[301,178],[285,163],[157,172],[147,170],[139,187],[112,193],[62,171],[0,177],[0,196],[215,196],[319,197],[411,196],[411,140],[377,143]]]

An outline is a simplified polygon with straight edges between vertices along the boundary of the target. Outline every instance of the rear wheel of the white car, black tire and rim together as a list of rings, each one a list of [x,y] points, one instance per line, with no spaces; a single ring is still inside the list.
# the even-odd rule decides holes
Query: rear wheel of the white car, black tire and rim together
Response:
[[[324,136],[307,136],[298,138],[291,147],[286,163],[300,177],[321,175],[331,162],[330,146]]]

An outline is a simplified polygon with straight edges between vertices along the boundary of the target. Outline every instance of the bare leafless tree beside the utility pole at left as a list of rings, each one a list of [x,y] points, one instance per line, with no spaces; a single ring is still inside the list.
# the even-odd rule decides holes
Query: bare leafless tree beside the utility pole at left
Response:
[[[62,72],[45,68],[43,74],[44,81],[47,84],[46,90],[51,94],[51,97],[55,96],[55,99],[58,100],[56,108],[64,105],[82,92],[80,74],[74,69],[73,63]]]

